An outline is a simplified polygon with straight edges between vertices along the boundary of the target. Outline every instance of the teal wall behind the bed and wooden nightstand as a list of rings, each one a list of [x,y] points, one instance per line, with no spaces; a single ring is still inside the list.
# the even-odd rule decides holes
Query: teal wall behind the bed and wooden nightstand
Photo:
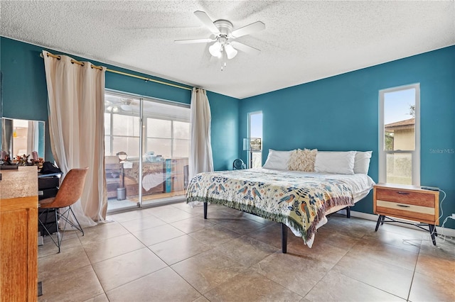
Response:
[[[373,150],[368,174],[378,181],[379,90],[414,83],[420,83],[420,179],[446,192],[442,223],[455,213],[455,46],[243,99],[239,137],[246,137],[247,113],[262,111],[264,162],[269,148]],[[373,194],[353,210],[373,213]],[[455,228],[454,220],[445,226]]]

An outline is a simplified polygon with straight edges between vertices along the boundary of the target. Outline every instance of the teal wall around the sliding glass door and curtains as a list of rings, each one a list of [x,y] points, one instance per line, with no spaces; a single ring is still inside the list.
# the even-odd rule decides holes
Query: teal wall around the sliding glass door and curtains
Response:
[[[39,56],[42,50],[48,50],[53,54],[68,55],[45,47],[5,37],[0,38],[2,114],[9,118],[45,121],[45,160],[52,161],[53,155],[50,150],[48,129],[48,93],[45,84],[44,61]],[[86,58],[75,55],[70,55],[70,57],[75,60],[87,61]],[[94,65],[102,65],[109,69],[186,86],[132,70],[106,65],[93,60],[89,61]],[[191,103],[191,91],[189,90],[146,82],[112,72],[106,72],[106,88],[184,104]],[[232,164],[238,156],[237,135],[240,101],[210,91],[208,91],[208,99],[212,112],[213,164],[215,169],[228,169],[228,162]]]

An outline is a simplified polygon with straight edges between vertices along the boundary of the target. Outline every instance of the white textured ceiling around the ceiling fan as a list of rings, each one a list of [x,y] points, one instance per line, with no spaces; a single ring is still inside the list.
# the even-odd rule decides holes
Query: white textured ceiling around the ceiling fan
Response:
[[[455,45],[451,1],[1,1],[1,35],[243,99]],[[194,11],[234,29],[260,55],[220,71]]]

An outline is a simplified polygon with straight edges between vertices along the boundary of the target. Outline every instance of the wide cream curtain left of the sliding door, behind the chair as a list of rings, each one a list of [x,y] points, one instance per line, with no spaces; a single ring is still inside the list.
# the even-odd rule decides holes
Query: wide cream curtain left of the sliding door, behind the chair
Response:
[[[105,220],[104,103],[105,67],[78,65],[61,55],[58,60],[43,50],[48,86],[50,146],[64,174],[88,167],[82,197],[72,206],[82,227]]]

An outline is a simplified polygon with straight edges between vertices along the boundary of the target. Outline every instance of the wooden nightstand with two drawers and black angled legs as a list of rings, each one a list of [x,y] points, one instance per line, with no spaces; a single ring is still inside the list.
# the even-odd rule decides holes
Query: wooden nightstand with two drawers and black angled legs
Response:
[[[376,231],[385,222],[397,222],[415,225],[422,230],[428,230],[437,236],[435,225],[439,225],[439,191],[424,190],[420,186],[404,184],[376,184],[373,187],[373,212],[379,215]],[[417,221],[407,223],[394,220],[388,216]],[[385,221],[385,218],[389,220]],[[423,228],[423,225],[428,225]]]

